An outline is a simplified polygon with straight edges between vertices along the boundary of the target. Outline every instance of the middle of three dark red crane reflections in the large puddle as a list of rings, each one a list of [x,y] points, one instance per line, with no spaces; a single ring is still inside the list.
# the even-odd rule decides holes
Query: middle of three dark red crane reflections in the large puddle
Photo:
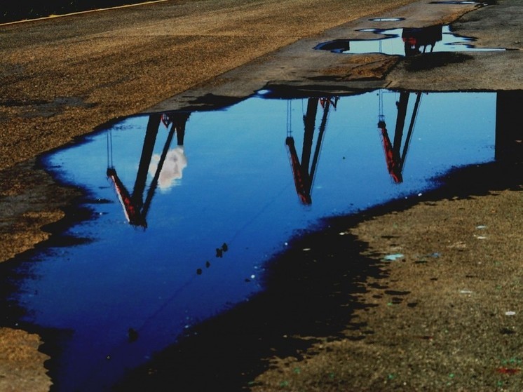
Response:
[[[307,111],[304,116],[304,144],[301,149],[301,162],[299,161],[296,147],[294,146],[294,137],[292,137],[292,130],[290,126],[290,101],[287,102],[287,138],[285,144],[287,145],[292,175],[294,177],[294,186],[301,203],[309,205],[312,203],[311,188],[314,180],[314,173],[318,165],[318,158],[320,156],[321,142],[325,128],[327,126],[327,115],[330,107],[336,108],[338,97],[334,98],[309,98],[307,102]],[[311,152],[313,147],[314,128],[316,113],[318,111],[318,101],[323,108],[323,116],[318,132],[318,140],[314,150],[311,163]],[[310,170],[309,170],[310,165]]]

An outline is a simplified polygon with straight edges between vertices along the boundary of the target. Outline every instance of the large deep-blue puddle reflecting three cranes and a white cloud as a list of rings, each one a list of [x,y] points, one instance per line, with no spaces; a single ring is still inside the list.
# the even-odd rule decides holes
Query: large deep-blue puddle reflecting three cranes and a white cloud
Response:
[[[248,301],[271,257],[322,217],[416,198],[495,159],[496,93],[269,95],[130,117],[43,158],[93,211],[65,233],[90,241],[20,266],[23,321],[64,331],[57,389],[100,391]]]

